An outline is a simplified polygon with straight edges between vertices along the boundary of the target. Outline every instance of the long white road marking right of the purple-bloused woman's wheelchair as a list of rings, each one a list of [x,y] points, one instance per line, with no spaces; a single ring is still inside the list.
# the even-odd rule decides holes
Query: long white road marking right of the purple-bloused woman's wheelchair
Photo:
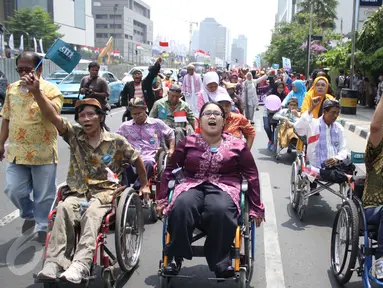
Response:
[[[261,173],[261,195],[265,205],[266,222],[263,226],[263,243],[265,246],[265,274],[267,288],[285,288],[285,277],[279,246],[277,219],[271,189],[269,173]]]

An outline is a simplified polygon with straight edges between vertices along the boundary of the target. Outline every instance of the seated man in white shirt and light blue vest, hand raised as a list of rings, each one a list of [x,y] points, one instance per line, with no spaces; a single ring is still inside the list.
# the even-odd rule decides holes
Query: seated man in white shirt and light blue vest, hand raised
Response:
[[[298,136],[307,138],[307,171],[320,176],[324,181],[343,183],[348,180],[345,173],[352,164],[346,161],[347,145],[343,127],[336,122],[340,105],[336,100],[325,100],[323,116],[315,119],[312,111],[319,105],[320,99],[313,98],[310,109],[295,123],[295,132]],[[315,188],[315,185],[311,188]]]

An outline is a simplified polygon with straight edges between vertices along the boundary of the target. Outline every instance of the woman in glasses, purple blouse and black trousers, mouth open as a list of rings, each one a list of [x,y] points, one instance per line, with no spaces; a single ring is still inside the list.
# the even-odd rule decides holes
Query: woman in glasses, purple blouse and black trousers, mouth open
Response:
[[[230,251],[240,213],[240,185],[249,183],[250,215],[259,226],[264,218],[258,170],[245,142],[223,132],[225,111],[206,103],[200,112],[201,134],[189,135],[176,147],[157,195],[168,217],[170,243],[165,274],[177,275],[182,260],[192,258],[191,239],[197,227],[206,235],[205,256],[218,278],[234,275]],[[168,182],[178,179],[170,204]],[[161,207],[162,205],[162,207]]]

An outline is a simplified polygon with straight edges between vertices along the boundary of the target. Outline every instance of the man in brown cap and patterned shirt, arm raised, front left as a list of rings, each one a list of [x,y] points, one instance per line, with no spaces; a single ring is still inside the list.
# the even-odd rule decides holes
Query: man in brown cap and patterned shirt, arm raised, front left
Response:
[[[38,89],[38,80],[32,76],[25,81],[30,91]],[[43,115],[56,126],[71,150],[64,201],[56,207],[44,268],[37,277],[56,279],[61,273],[61,279],[80,283],[89,277],[96,237],[104,216],[111,209],[112,199],[125,188],[120,187],[118,180],[123,165],[129,163],[137,168],[142,184],[140,192],[149,193],[145,167],[139,152],[124,137],[109,133],[102,126],[105,114],[96,99],[76,102],[75,120],[80,125],[72,125],[56,112],[44,95],[34,95]],[[81,215],[83,202],[88,202],[88,208]],[[80,224],[81,234],[73,251],[76,224]]]

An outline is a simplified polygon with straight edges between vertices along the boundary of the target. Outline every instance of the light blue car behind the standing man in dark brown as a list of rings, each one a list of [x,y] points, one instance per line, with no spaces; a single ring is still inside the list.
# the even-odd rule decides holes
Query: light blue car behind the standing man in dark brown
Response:
[[[84,76],[89,75],[86,70],[74,70],[65,77],[58,87],[64,97],[64,105],[62,111],[73,112],[74,105],[78,99],[83,99],[84,95],[80,94],[80,84]],[[100,77],[103,77],[108,82],[110,95],[108,98],[109,104],[117,107],[121,106],[121,92],[124,86],[111,72],[100,71]]]

